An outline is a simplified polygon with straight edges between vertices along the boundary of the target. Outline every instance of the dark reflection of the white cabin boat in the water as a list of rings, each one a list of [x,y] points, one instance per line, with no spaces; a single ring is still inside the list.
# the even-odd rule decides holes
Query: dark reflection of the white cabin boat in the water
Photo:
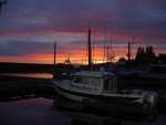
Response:
[[[76,103],[76,102],[75,102]],[[54,101],[51,110],[55,113],[60,113],[63,116],[68,116],[72,119],[72,125],[123,125],[126,122],[129,123],[139,123],[154,121],[156,114],[151,115],[136,115],[136,114],[120,114],[120,113],[105,113],[94,110],[74,110],[71,108],[69,101],[66,105],[62,107],[61,101]],[[61,108],[59,108],[61,107]]]

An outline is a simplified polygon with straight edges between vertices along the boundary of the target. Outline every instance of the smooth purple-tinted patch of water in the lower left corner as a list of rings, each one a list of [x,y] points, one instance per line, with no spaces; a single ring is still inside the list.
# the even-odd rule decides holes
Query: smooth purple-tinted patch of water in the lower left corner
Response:
[[[51,112],[52,100],[31,98],[0,102],[0,125],[70,125],[69,117]]]

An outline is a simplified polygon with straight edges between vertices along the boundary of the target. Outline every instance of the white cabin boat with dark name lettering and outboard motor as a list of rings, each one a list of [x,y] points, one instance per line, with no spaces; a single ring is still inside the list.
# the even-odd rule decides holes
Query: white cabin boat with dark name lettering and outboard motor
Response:
[[[72,79],[68,79],[72,77]],[[73,74],[56,73],[52,82],[60,96],[68,100],[84,102],[92,100],[103,101],[107,104],[148,105],[155,112],[158,96],[156,92],[143,90],[123,90],[118,77],[110,72],[75,72]],[[86,100],[86,103],[87,103]],[[100,102],[101,103],[101,102]],[[94,104],[97,104],[96,102]],[[98,104],[100,106],[100,104]]]

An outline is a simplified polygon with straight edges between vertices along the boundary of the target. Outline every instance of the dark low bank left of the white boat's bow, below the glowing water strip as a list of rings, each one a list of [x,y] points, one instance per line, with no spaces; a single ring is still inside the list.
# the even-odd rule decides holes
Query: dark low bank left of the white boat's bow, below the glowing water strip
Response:
[[[0,75],[0,100],[28,96],[54,96],[51,79]]]

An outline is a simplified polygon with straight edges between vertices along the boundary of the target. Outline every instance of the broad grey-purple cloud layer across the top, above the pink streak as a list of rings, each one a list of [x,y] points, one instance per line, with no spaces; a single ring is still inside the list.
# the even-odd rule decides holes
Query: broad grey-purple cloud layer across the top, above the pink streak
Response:
[[[8,24],[15,28],[12,30],[87,28],[89,24],[165,28],[165,3],[164,0],[14,0],[7,4],[9,10],[2,23],[6,29]]]

